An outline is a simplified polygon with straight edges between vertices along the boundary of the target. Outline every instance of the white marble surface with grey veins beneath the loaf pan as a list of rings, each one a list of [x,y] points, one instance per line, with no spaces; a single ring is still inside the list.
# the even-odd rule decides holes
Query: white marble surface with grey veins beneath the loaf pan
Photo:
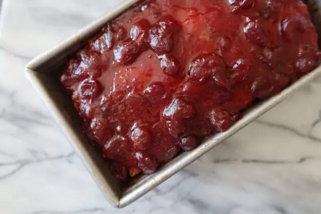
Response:
[[[321,78],[134,204],[107,203],[24,65],[120,2],[4,0],[0,213],[321,213]]]

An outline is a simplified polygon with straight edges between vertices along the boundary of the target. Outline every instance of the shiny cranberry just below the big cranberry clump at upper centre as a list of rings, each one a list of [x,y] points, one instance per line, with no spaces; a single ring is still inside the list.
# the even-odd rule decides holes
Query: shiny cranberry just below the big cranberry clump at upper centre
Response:
[[[161,59],[161,68],[168,76],[178,76],[180,74],[180,63],[176,57],[164,54],[159,57]]]

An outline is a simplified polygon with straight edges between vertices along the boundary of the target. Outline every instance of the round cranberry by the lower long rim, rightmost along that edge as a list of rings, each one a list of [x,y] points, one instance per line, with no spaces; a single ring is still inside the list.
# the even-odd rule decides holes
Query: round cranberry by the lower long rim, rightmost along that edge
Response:
[[[224,132],[231,125],[231,115],[222,108],[215,108],[209,113],[209,122],[216,132]]]

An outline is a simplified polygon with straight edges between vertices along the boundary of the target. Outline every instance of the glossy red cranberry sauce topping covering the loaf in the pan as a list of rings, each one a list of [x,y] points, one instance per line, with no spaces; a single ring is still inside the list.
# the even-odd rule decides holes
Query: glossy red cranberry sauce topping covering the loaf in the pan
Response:
[[[153,0],[108,23],[61,82],[125,180],[227,130],[317,59],[300,0]]]

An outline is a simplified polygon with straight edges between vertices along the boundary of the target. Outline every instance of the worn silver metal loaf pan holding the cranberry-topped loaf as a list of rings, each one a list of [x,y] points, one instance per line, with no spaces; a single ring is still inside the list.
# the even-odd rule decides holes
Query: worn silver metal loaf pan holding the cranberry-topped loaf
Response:
[[[321,36],[321,25],[319,25],[321,18],[318,13],[319,4],[315,1],[318,0],[308,0],[307,4],[312,13],[311,17],[317,28],[318,35]],[[81,130],[81,119],[73,107],[70,96],[66,94],[63,89],[58,76],[62,70],[61,66],[66,62],[68,55],[83,47],[108,21],[113,20],[137,2],[139,2],[139,0],[126,1],[117,9],[93,22],[62,44],[38,56],[26,65],[27,77],[43,98],[49,111],[56,119],[69,142],[78,152],[78,155],[81,157],[102,193],[112,205],[119,208],[132,203],[157,185],[163,183],[321,73],[321,66],[318,66],[282,92],[253,106],[243,115],[242,119],[227,132],[209,137],[198,148],[191,152],[182,153],[160,168],[156,173],[149,176],[141,176],[130,181],[126,187],[123,187],[110,172],[109,162],[104,160],[101,154],[88,143],[87,136],[85,136]]]

